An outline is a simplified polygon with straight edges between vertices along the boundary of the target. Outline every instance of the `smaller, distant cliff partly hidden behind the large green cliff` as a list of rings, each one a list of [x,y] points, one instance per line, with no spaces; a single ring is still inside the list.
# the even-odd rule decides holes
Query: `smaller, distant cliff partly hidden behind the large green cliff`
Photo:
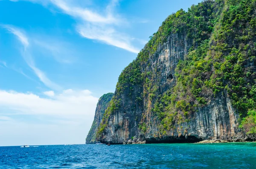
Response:
[[[111,98],[113,97],[113,93],[108,93],[99,98],[99,102],[97,103],[93,124],[90,128],[90,131],[86,137],[87,144],[95,144],[98,143],[96,141],[96,131],[99,127],[100,122],[102,121],[103,114],[107,109]]]

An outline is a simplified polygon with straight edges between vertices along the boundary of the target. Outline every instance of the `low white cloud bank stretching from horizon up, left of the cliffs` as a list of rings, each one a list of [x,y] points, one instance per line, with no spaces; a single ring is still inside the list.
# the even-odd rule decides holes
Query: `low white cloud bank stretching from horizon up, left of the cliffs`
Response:
[[[0,146],[85,143],[97,102],[89,90],[50,99],[0,90]]]

